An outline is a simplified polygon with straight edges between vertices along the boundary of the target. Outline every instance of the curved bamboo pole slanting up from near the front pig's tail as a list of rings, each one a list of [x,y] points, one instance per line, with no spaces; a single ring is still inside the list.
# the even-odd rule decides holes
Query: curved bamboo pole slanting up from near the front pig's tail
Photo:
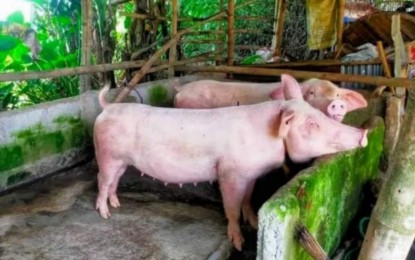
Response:
[[[237,6],[237,8],[241,8],[245,5],[249,5],[252,3],[255,3],[258,0],[252,0],[252,1],[246,1],[243,4],[240,4]],[[118,96],[115,98],[114,102],[120,102],[122,101],[126,96],[128,96],[128,94],[130,93],[130,91],[135,87],[135,85],[140,81],[140,79],[146,74],[146,71],[152,66],[152,64],[154,62],[157,61],[158,58],[160,58],[161,55],[163,55],[163,53],[165,53],[172,45],[176,44],[177,41],[180,39],[180,37],[193,30],[194,28],[197,28],[198,26],[214,21],[218,18],[221,17],[225,17],[226,13],[225,12],[221,12],[218,13],[214,16],[211,16],[210,18],[201,21],[201,22],[197,22],[195,23],[193,26],[188,27],[184,30],[179,31],[176,36],[172,37],[168,42],[166,42],[156,53],[153,54],[153,56],[150,57],[150,59],[143,65],[143,67],[140,69],[140,71],[131,79],[131,81],[127,84],[127,87],[122,89],[121,92],[118,94]]]

